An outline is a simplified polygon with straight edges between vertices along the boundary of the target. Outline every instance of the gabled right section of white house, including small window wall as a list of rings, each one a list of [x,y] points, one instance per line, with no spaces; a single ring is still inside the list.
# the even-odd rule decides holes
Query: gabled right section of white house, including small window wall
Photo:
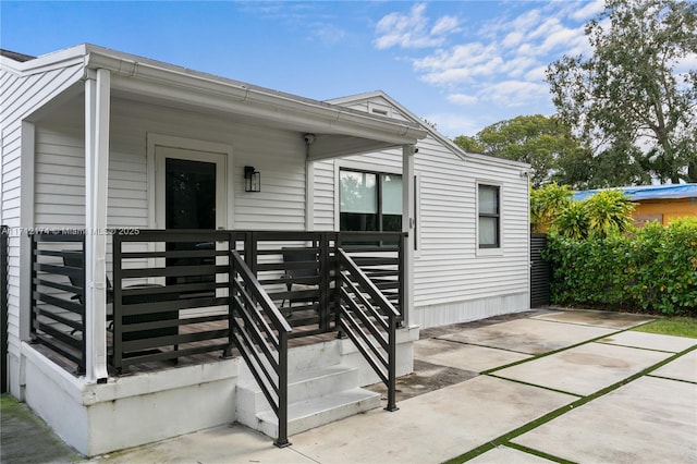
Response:
[[[427,131],[409,167],[415,192],[409,323],[425,329],[529,308],[529,167],[465,154],[381,91],[330,102]],[[314,171],[315,228],[339,230],[341,173],[402,174],[402,158],[399,150],[384,150],[317,162]]]

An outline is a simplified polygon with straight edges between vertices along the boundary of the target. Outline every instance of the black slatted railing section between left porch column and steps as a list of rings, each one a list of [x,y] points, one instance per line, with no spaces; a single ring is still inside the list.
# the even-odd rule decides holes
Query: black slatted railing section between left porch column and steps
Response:
[[[111,363],[124,367],[231,351],[233,232],[140,230],[113,235]]]

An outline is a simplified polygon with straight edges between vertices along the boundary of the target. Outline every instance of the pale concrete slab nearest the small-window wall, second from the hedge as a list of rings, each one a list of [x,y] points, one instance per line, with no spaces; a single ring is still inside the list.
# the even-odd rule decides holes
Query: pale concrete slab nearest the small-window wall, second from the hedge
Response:
[[[440,337],[526,354],[542,354],[614,332],[612,329],[517,319]]]

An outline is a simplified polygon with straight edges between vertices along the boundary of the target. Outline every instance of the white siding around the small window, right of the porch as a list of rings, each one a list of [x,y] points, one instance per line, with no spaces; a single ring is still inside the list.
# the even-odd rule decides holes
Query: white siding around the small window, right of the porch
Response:
[[[367,110],[366,100],[345,105]],[[402,113],[395,109],[395,114]],[[425,328],[527,309],[528,185],[527,179],[521,176],[521,168],[489,157],[463,159],[431,135],[419,141],[417,147],[414,167],[420,184],[420,235],[414,262],[415,310],[411,321]],[[322,227],[328,218],[333,220],[334,162],[390,172],[401,169],[402,154],[381,151],[316,167],[315,220]],[[329,175],[331,188],[325,187],[329,181],[323,178]],[[500,251],[478,251],[477,182],[501,187]]]

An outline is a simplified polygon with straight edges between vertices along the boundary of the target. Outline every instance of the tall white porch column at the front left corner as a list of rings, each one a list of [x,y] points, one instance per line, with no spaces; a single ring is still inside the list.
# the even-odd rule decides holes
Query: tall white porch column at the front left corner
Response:
[[[88,382],[107,373],[107,179],[111,74],[85,81],[85,344]]]

